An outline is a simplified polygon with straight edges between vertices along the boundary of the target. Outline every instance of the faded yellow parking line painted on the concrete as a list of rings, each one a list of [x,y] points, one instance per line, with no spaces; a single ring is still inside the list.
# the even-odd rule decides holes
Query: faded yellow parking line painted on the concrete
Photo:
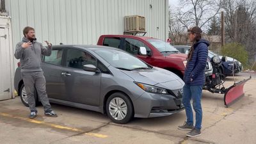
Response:
[[[0,115],[10,117],[10,118],[16,118],[16,119],[19,119],[19,120],[24,120],[24,121],[35,123],[35,124],[47,125],[49,127],[54,127],[54,128],[57,128],[57,129],[65,129],[65,130],[74,131],[74,132],[84,132],[81,129],[76,129],[76,128],[73,128],[73,127],[65,127],[65,126],[62,126],[62,125],[51,124],[51,123],[47,123],[47,122],[40,121],[40,120],[33,120],[33,119],[30,119],[30,118],[23,118],[23,117],[20,117],[20,116],[10,115],[8,113],[0,113]],[[108,137],[107,135],[104,135],[104,134],[97,134],[97,133],[92,133],[92,132],[86,132],[85,134],[88,135],[88,136],[95,136],[97,138],[107,138]]]

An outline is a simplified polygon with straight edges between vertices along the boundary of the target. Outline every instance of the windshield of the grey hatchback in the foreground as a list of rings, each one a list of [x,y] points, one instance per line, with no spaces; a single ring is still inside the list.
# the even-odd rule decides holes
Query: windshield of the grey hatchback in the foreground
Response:
[[[140,59],[123,51],[117,51],[115,49],[97,49],[95,50],[95,53],[118,69],[140,70],[151,68]]]

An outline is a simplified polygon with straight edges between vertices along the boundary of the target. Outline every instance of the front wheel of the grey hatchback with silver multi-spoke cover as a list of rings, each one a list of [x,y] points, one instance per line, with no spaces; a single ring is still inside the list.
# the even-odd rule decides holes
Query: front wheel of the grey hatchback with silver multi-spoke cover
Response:
[[[108,117],[116,124],[126,124],[134,117],[131,100],[124,93],[113,93],[106,102]]]

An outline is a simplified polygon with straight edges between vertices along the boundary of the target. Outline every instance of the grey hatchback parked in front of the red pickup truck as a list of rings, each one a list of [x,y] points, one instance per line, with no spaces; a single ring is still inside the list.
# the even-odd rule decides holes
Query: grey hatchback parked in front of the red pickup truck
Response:
[[[42,69],[50,102],[106,113],[118,124],[134,116],[166,116],[184,109],[180,77],[120,49],[55,45],[51,56],[42,59]],[[28,106],[20,67],[14,79],[15,90]],[[35,100],[40,101],[36,90]]]

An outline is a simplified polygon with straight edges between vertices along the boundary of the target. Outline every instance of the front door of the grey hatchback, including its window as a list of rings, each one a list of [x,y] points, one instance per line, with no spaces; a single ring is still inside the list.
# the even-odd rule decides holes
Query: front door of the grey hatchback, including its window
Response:
[[[66,97],[70,102],[99,106],[101,73],[83,70],[83,65],[97,67],[97,59],[80,49],[67,49],[65,53],[61,77]]]

